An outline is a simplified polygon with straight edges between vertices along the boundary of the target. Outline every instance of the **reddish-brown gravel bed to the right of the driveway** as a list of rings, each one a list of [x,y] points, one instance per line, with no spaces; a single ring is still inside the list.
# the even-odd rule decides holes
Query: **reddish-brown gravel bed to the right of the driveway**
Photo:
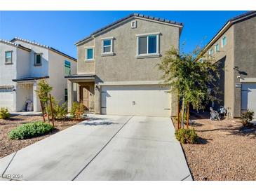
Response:
[[[191,119],[201,143],[182,148],[194,180],[256,180],[256,128],[243,128],[239,119]]]

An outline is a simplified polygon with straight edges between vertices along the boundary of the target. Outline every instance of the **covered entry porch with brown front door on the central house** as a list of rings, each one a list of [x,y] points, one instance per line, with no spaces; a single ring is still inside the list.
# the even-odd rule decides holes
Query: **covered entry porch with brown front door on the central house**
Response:
[[[95,112],[95,75],[74,74],[67,78],[67,107],[72,109],[73,102],[81,102],[87,112]],[[76,93],[76,94],[75,94]]]

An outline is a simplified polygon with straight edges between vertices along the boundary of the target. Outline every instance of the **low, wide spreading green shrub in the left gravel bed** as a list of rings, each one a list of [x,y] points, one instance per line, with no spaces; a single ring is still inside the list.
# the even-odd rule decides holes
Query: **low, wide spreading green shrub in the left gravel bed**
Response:
[[[40,135],[45,135],[51,130],[53,130],[53,125],[38,121],[34,123],[27,123],[11,130],[8,137],[10,139],[28,139]]]

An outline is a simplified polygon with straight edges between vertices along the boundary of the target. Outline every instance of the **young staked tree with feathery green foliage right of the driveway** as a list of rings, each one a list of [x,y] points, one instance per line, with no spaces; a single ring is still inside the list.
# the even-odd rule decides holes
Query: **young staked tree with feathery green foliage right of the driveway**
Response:
[[[185,104],[189,115],[189,104],[198,110],[205,109],[209,101],[217,100],[215,83],[219,78],[219,64],[213,57],[203,54],[200,48],[196,48],[192,53],[180,53],[172,47],[157,65],[159,70],[163,71],[163,83],[170,87],[170,92],[178,96],[178,104],[180,99],[182,100],[182,128]]]

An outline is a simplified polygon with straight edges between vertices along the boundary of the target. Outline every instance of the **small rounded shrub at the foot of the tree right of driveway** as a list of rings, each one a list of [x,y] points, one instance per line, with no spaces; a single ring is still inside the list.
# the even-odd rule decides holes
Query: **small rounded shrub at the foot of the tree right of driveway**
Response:
[[[198,142],[198,135],[194,129],[181,128],[176,130],[175,137],[182,144],[196,144]]]

